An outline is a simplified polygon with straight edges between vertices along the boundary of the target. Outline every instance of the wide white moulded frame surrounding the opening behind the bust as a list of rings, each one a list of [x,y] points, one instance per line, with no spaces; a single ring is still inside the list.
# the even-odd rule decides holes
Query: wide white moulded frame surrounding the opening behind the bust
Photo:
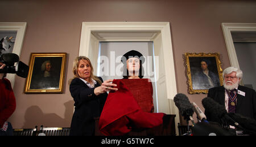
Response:
[[[111,37],[98,38],[94,32],[130,32],[138,34],[140,32],[155,32],[152,38],[142,37]],[[177,123],[180,122],[179,110],[175,106],[174,97],[177,94],[176,76],[174,66],[174,55],[172,52],[171,31],[169,22],[83,22],[81,29],[81,40],[79,55],[85,55],[94,61],[93,67],[96,72],[98,60],[98,46],[100,41],[156,41],[154,43],[155,55],[161,55],[163,62],[161,66],[164,72],[159,74],[158,105],[159,112],[175,114],[175,125],[177,133]],[[157,49],[156,49],[157,48]],[[97,72],[96,72],[97,73]],[[160,99],[160,100],[159,100]],[[161,110],[162,109],[162,110]]]

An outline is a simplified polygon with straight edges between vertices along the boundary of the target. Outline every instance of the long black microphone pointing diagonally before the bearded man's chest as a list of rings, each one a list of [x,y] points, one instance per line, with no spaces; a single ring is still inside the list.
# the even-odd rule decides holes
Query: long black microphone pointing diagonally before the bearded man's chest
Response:
[[[222,121],[222,124],[225,123],[225,125],[229,124],[231,126],[242,128],[240,124],[230,118],[225,107],[214,101],[212,98],[206,97],[202,100],[202,103],[205,109]]]

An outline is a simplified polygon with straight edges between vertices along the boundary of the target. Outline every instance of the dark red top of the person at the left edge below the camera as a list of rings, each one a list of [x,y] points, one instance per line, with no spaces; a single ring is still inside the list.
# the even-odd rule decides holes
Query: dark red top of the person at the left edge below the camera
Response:
[[[10,118],[16,109],[16,101],[11,88],[11,83],[7,79],[0,79],[0,128],[3,123]]]

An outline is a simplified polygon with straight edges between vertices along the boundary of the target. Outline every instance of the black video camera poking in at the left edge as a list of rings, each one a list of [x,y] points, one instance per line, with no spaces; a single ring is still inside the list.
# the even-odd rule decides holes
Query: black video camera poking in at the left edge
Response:
[[[17,76],[24,78],[27,77],[29,67],[19,61],[18,55],[13,53],[0,54],[0,62],[6,64],[3,69],[0,69],[0,73],[16,74]],[[16,66],[14,66],[14,63],[16,63]]]

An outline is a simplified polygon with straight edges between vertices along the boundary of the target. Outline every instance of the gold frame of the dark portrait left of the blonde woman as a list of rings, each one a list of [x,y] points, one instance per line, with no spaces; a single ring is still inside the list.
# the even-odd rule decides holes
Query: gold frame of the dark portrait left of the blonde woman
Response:
[[[61,57],[61,71],[60,71],[60,81],[59,81],[59,88],[58,89],[31,89],[31,77],[34,70],[35,58],[51,58],[51,57]],[[28,76],[26,79],[26,85],[24,88],[24,93],[63,93],[63,85],[64,85],[64,77],[65,77],[65,64],[67,60],[67,53],[31,53],[30,55],[30,70],[28,71]]]

